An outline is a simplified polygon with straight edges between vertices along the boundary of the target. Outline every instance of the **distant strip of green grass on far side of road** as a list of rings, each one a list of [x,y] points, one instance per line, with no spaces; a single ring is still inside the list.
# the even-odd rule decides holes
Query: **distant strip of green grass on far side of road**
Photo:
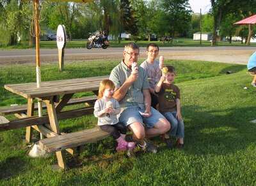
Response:
[[[118,41],[110,41],[110,47],[124,47],[125,44],[131,41],[122,41],[118,43]],[[147,47],[148,43],[156,43],[159,47],[210,47],[210,41],[202,41],[202,45],[200,45],[200,41],[193,41],[191,38],[175,38],[173,39],[173,43],[162,41],[137,41],[140,47]],[[77,39],[74,41],[68,41],[66,48],[85,48],[86,40],[85,39]],[[244,46],[247,45],[241,44],[240,41],[232,41],[232,43],[228,43],[228,41],[218,41],[218,46]],[[256,46],[256,43],[251,43],[250,46]],[[1,47],[0,47],[1,48]],[[13,48],[29,48],[27,41],[22,41],[19,45],[3,47],[5,49],[13,49]],[[57,48],[56,41],[40,41],[40,48]]]

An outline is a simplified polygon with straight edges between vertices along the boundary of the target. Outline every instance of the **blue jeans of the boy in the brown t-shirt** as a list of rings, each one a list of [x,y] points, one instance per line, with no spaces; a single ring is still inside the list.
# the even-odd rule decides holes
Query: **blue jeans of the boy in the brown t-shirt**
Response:
[[[184,122],[176,118],[177,111],[165,112],[164,117],[170,122],[171,129],[168,131],[170,136],[184,138]]]

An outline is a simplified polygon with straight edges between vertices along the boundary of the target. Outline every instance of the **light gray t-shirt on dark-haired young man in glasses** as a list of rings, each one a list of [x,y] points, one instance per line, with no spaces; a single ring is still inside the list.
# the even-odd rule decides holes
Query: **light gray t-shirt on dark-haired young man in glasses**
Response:
[[[159,68],[159,61],[154,61],[153,64],[150,64],[147,62],[147,60],[145,60],[140,66],[147,71],[150,88],[155,89],[155,86],[159,82],[162,75],[161,69]]]

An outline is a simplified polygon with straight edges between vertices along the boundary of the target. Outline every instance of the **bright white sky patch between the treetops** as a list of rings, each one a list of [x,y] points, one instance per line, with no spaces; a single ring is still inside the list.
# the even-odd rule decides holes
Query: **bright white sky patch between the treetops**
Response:
[[[211,8],[211,0],[189,0],[189,4],[195,13],[200,13],[201,8],[202,14],[204,14]]]

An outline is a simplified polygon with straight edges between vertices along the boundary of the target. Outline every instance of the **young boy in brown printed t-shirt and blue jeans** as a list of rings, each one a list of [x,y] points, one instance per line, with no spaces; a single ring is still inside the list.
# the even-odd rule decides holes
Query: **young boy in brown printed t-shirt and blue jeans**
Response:
[[[184,123],[180,111],[180,89],[173,84],[175,80],[175,69],[173,66],[163,68],[163,75],[155,87],[158,94],[159,111],[172,124],[169,135],[177,138],[177,148],[184,147]],[[168,138],[166,133],[165,138]]]

